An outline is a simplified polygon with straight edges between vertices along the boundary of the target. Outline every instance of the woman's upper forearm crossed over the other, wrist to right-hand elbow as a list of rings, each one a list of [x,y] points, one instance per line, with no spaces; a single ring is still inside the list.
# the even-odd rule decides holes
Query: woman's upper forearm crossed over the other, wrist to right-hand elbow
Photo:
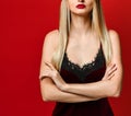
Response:
[[[85,84],[67,84],[63,91],[87,97],[107,97],[114,96],[116,89],[110,80],[106,80]]]

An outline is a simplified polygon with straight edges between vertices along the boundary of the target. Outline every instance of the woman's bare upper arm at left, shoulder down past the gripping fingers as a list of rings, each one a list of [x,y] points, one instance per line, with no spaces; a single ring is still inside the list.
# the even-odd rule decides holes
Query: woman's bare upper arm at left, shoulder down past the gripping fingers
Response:
[[[43,51],[41,51],[39,79],[43,78],[43,73],[44,73],[45,69],[47,68],[45,62],[51,62],[53,51],[58,44],[58,36],[59,36],[58,30],[53,30],[53,31],[47,33],[45,36],[44,44],[43,44]]]

